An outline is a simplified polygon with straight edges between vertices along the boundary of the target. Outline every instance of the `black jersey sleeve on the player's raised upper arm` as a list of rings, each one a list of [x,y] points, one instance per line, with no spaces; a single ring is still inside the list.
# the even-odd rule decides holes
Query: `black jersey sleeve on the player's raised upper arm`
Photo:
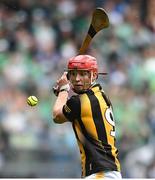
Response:
[[[63,106],[63,114],[69,121],[74,121],[80,117],[80,99],[78,96],[72,96]]]

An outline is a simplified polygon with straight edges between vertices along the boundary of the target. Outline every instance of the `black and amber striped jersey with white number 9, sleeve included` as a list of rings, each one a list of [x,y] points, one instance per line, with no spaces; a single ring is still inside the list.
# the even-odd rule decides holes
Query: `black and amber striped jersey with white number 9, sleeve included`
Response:
[[[72,96],[63,107],[72,122],[81,155],[82,177],[120,171],[112,105],[99,84]]]

